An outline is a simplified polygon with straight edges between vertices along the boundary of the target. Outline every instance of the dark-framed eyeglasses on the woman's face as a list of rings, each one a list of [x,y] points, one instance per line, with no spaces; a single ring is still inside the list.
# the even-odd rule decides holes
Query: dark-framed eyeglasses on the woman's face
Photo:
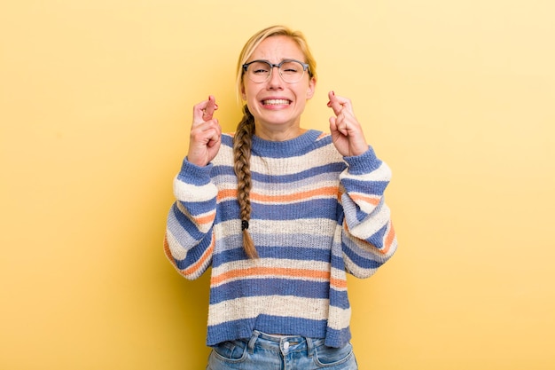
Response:
[[[285,83],[298,83],[301,81],[304,71],[309,69],[307,63],[295,59],[285,59],[278,64],[270,63],[268,60],[253,60],[243,65],[243,71],[253,83],[265,83],[270,80],[274,67],[277,67],[279,75]]]

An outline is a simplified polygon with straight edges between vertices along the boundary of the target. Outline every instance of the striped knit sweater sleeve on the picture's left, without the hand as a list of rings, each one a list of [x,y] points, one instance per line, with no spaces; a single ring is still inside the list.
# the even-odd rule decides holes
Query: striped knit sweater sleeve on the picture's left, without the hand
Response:
[[[187,279],[199,278],[212,260],[217,190],[211,169],[212,164],[198,167],[184,159],[174,179],[176,202],[168,212],[164,250]]]

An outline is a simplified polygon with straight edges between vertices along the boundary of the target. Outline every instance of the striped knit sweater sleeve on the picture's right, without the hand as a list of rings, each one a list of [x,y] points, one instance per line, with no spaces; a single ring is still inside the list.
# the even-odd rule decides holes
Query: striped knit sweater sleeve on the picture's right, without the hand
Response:
[[[343,193],[343,258],[349,273],[368,278],[393,256],[397,248],[384,192],[391,170],[373,149],[346,157],[348,168],[340,175]]]

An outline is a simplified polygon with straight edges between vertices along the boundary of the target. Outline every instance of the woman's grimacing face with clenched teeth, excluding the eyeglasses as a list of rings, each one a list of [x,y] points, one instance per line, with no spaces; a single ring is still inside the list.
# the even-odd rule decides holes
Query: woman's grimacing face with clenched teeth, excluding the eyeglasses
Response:
[[[291,38],[270,36],[254,50],[247,62],[263,59],[277,64],[284,59],[305,62],[304,55]],[[301,126],[301,114],[307,100],[312,98],[316,81],[305,71],[301,81],[285,83],[277,68],[273,68],[265,83],[254,83],[245,75],[241,93],[254,116],[257,130],[285,131]]]

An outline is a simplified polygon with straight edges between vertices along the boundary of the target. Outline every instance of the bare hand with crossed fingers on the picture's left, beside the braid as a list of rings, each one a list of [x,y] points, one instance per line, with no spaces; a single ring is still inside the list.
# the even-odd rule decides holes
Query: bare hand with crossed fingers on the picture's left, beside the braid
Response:
[[[222,127],[214,112],[218,109],[210,95],[192,108],[191,137],[187,160],[197,166],[206,166],[215,158],[222,144]]]

